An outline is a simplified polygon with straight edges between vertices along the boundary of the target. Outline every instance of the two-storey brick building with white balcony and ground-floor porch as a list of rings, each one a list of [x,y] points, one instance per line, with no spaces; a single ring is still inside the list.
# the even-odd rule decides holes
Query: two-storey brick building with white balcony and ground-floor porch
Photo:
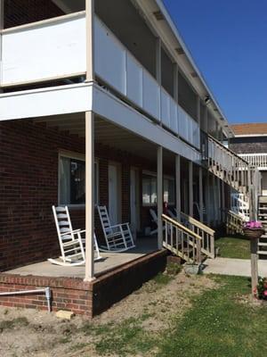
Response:
[[[92,317],[163,270],[167,251],[214,257],[247,162],[223,146],[233,132],[164,4],[0,4],[0,291],[50,286],[53,309]],[[86,227],[85,266],[46,262],[60,253],[53,204]],[[99,204],[130,222],[135,251],[93,261]],[[0,303],[45,308],[44,296]]]

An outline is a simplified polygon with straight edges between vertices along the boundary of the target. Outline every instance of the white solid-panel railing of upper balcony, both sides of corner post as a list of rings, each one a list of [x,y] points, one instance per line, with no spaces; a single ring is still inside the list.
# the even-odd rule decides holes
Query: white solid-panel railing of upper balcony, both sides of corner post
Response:
[[[71,84],[85,80],[85,11],[3,29],[1,37],[0,86],[5,91],[40,86],[41,82],[61,80]],[[94,17],[94,65],[96,78],[107,90],[200,148],[198,121],[192,118],[190,110],[182,109],[178,97],[175,100],[172,90],[167,90],[170,86],[159,84],[157,76],[151,73],[154,69],[149,71],[148,66],[137,60],[98,16]],[[167,74],[162,73],[162,83],[174,81],[170,74],[167,79]],[[190,109],[195,104],[190,104],[190,95],[187,95],[184,91],[182,100],[189,103]]]

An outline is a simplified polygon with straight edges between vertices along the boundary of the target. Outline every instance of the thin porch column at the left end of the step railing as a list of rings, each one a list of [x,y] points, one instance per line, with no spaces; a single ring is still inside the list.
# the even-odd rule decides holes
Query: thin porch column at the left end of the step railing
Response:
[[[158,249],[162,249],[163,233],[162,233],[162,213],[163,213],[163,191],[162,191],[162,146],[158,146],[157,157],[157,202],[158,202]]]

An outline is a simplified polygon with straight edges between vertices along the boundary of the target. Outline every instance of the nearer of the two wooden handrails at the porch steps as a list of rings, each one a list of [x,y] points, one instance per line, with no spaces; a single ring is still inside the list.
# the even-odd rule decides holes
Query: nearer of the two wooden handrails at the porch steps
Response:
[[[185,262],[201,262],[202,237],[165,214],[162,220],[165,227],[163,246]]]

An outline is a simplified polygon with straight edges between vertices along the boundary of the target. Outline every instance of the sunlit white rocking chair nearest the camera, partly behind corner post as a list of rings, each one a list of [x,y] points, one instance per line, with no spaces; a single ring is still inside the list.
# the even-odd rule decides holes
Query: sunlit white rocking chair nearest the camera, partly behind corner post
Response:
[[[53,206],[52,209],[61,247],[61,256],[59,260],[48,259],[48,262],[61,266],[85,264],[85,238],[82,238],[82,234],[85,233],[85,230],[73,230],[67,206]],[[95,235],[93,235],[93,245],[94,261],[99,261],[101,255]]]

